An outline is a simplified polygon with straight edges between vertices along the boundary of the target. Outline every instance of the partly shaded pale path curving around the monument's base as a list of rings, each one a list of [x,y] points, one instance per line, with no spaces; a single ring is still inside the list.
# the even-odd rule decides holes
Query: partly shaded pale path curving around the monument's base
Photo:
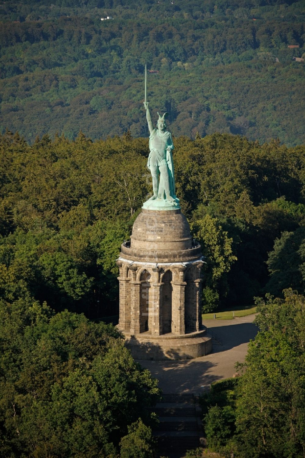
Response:
[[[213,352],[194,360],[138,362],[158,378],[163,393],[201,393],[203,387],[232,377],[236,361],[244,361],[250,339],[258,328],[255,315],[233,320],[206,320],[205,326],[217,334],[222,345],[214,344]]]

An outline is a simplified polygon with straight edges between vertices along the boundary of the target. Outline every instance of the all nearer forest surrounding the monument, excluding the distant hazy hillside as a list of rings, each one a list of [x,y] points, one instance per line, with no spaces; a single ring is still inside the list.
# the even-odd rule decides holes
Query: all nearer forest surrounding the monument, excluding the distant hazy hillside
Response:
[[[177,195],[207,258],[202,310],[267,293],[244,374],[202,399],[208,447],[301,458],[305,148],[226,133],[174,145]],[[152,192],[147,150],[129,131],[0,136],[1,456],[154,456],[157,381],[101,321],[118,312],[115,259]]]

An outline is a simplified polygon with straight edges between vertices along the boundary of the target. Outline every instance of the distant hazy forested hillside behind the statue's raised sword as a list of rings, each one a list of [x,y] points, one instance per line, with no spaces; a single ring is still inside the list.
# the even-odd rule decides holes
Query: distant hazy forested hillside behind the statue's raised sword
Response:
[[[305,141],[303,1],[26,0],[0,14],[2,133],[147,136],[147,62],[174,135]]]

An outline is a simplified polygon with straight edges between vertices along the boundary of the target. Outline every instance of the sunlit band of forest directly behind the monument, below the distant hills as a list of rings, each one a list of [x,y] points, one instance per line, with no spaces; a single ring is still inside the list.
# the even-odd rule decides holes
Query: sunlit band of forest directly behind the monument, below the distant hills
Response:
[[[115,259],[151,192],[148,139],[1,136],[4,297],[116,315]],[[174,137],[176,191],[207,256],[203,307],[304,290],[304,146]],[[269,257],[268,257],[269,254]],[[267,264],[266,264],[267,262]],[[267,267],[270,276],[268,276]]]

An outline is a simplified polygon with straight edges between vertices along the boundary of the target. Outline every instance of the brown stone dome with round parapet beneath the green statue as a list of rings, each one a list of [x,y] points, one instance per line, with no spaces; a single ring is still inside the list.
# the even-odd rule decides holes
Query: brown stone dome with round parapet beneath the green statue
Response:
[[[136,218],[130,242],[124,242],[121,256],[142,261],[191,261],[201,256],[190,226],[181,210],[146,210]]]

